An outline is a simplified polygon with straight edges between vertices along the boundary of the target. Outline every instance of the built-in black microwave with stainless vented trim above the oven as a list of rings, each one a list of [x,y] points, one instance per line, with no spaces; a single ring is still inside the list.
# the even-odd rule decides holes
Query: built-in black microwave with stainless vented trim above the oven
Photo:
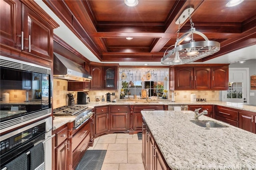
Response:
[[[52,114],[51,68],[0,56],[1,135]]]

